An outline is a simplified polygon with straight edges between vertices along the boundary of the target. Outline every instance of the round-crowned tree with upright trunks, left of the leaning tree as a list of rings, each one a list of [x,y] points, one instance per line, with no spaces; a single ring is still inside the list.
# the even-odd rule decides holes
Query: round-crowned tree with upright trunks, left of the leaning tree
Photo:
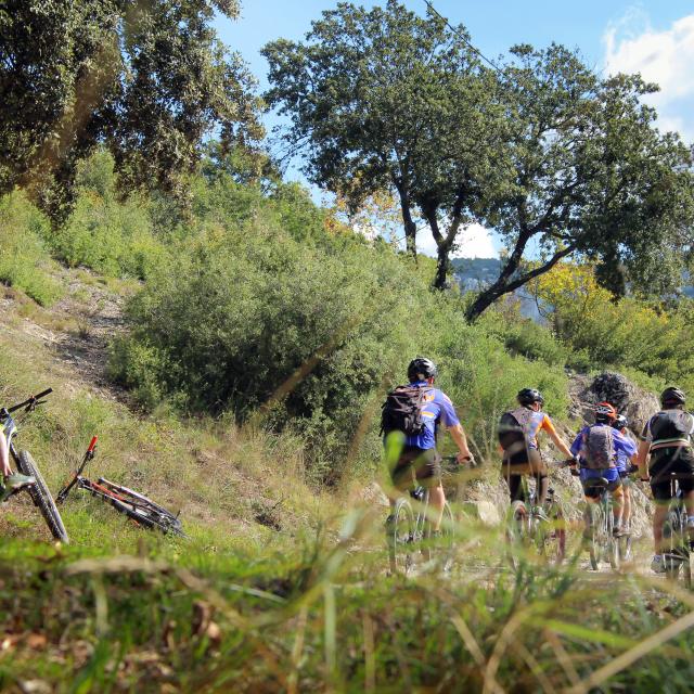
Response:
[[[396,195],[412,255],[423,218],[439,248],[438,287],[502,139],[496,82],[457,31],[395,0],[371,11],[342,3],[305,42],[264,49],[267,99],[292,118],[286,137],[307,152],[307,175],[352,211]]]

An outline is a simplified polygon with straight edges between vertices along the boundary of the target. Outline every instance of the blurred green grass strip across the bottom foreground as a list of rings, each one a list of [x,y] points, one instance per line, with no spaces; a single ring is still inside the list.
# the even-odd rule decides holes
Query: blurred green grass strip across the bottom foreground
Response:
[[[404,580],[387,576],[380,532],[356,511],[336,532],[261,552],[139,531],[115,556],[5,541],[0,686],[691,691],[694,599],[676,586],[532,563],[502,570],[499,539],[471,525],[459,547],[481,538],[486,568],[463,550],[450,576]]]

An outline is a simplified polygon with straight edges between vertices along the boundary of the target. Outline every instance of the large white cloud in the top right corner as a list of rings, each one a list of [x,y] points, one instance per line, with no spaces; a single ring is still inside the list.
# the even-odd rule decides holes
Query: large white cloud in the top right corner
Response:
[[[605,72],[641,73],[660,91],[646,98],[656,107],[663,130],[694,140],[694,14],[656,30],[642,10],[631,10],[603,35]]]

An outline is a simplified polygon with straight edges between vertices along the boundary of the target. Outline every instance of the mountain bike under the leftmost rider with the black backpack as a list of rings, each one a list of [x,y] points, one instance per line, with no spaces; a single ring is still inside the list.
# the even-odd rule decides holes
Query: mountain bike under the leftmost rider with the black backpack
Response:
[[[455,457],[442,459],[441,464],[455,464]],[[417,483],[412,471],[412,483],[407,497],[400,497],[386,519],[388,558],[391,574],[408,575],[417,564],[438,566],[450,571],[453,566],[455,522],[446,501],[440,530],[433,531],[429,490]]]

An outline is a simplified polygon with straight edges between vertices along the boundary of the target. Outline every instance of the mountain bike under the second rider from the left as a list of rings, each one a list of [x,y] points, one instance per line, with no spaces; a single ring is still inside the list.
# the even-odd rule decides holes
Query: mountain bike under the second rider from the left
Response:
[[[520,485],[523,499],[511,504],[506,527],[511,566],[518,569],[530,548],[549,564],[558,565],[566,555],[566,519],[561,501],[550,487],[542,504],[545,519],[536,504],[536,489],[529,489],[527,475],[522,476]]]

